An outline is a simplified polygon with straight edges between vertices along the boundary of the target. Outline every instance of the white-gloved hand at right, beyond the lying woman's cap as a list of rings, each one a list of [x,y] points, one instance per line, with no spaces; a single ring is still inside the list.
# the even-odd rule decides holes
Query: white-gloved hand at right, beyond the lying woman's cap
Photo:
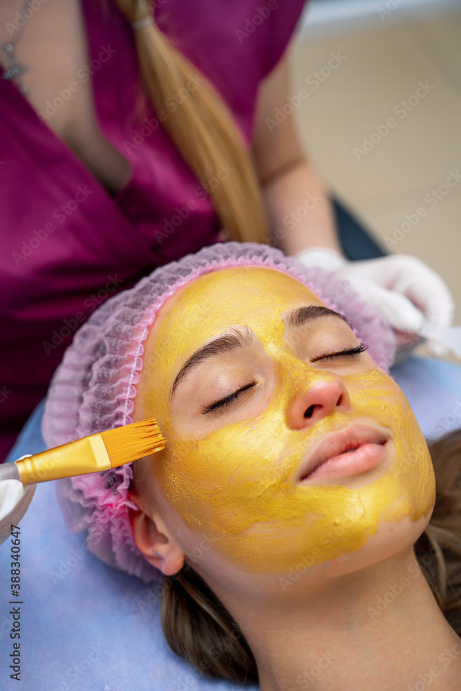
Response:
[[[362,299],[376,307],[395,331],[413,334],[398,338],[400,347],[412,347],[431,326],[451,326],[454,301],[442,278],[424,262],[406,254],[364,261],[348,261],[326,247],[306,249],[297,257],[305,266],[320,266],[349,281]],[[398,334],[397,334],[398,336]],[[426,341],[429,352],[442,357],[448,349]]]

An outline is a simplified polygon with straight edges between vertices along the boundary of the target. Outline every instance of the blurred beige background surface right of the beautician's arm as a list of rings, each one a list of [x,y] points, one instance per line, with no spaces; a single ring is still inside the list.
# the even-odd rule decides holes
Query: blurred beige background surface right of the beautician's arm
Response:
[[[331,53],[339,53],[341,64],[329,70]],[[451,178],[454,186],[441,200],[431,192],[446,184],[450,171],[461,173],[461,12],[299,38],[292,65],[292,94],[308,92],[294,117],[312,162],[384,246],[386,237],[397,240],[391,252],[413,254],[444,278],[461,324],[461,180]],[[311,77],[306,84],[322,67],[324,81],[315,88]],[[402,117],[400,102],[420,82],[427,93],[420,89],[419,102],[411,98]],[[366,155],[356,155],[355,147],[363,149],[364,138],[389,117],[395,126]],[[406,214],[416,225],[395,234]]]

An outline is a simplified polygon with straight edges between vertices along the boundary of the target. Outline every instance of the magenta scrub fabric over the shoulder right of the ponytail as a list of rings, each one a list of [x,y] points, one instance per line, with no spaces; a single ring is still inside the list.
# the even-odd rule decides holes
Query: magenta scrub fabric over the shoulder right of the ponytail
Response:
[[[157,0],[155,17],[251,138],[258,89],[285,52],[304,0]]]

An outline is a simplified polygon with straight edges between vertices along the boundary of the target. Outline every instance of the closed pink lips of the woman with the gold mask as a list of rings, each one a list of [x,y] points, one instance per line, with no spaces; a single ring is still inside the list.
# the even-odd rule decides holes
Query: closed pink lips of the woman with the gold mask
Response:
[[[364,473],[384,459],[390,438],[387,430],[368,425],[350,424],[330,432],[306,453],[299,482]]]

